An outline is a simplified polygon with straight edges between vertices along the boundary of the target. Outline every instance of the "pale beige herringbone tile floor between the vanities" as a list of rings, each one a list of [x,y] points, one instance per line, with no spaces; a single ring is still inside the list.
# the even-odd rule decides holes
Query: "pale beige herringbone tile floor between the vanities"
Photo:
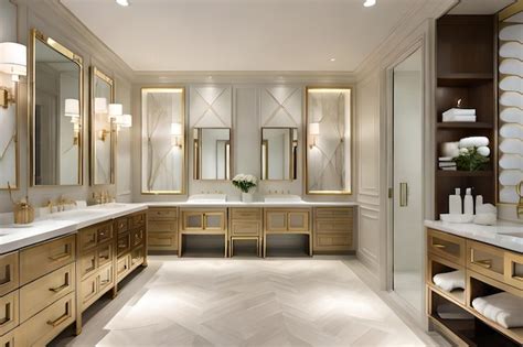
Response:
[[[424,346],[341,260],[156,257],[134,281],[148,271],[68,345]]]

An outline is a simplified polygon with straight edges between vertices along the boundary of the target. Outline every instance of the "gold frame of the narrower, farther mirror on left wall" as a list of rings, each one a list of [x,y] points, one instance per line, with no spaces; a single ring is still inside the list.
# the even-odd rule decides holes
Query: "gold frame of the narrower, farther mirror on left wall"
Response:
[[[90,185],[111,185],[115,184],[115,156],[116,156],[116,137],[117,132],[114,128],[113,121],[109,126],[109,140],[110,140],[110,173],[108,183],[96,183],[96,113],[95,113],[95,98],[96,98],[96,78],[99,78],[107,83],[110,87],[110,99],[107,104],[115,101],[115,82],[108,75],[103,73],[98,67],[90,66],[90,78],[89,78],[89,151],[90,151]]]

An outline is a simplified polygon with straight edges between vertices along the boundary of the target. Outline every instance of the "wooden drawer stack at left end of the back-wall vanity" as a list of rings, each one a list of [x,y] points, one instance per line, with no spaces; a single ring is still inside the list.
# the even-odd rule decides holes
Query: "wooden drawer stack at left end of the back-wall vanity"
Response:
[[[149,208],[148,250],[150,252],[175,252],[178,250],[177,207]]]

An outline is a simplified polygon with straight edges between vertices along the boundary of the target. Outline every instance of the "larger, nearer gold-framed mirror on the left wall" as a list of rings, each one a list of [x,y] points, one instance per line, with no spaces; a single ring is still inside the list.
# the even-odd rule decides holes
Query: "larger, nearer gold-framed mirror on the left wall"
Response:
[[[36,30],[30,52],[31,184],[82,185],[82,57]]]

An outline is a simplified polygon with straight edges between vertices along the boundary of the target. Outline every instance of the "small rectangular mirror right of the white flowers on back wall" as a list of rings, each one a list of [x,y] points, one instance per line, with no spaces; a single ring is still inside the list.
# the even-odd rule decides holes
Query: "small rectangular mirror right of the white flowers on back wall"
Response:
[[[262,180],[297,178],[298,129],[262,128]]]

